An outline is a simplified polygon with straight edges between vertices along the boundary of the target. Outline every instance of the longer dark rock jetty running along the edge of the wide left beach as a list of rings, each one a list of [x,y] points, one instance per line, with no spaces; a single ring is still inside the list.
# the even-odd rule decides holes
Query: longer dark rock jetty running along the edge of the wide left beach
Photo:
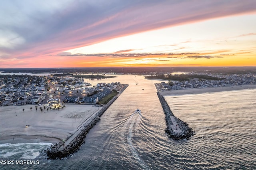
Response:
[[[80,146],[85,143],[84,138],[86,138],[86,134],[88,134],[90,129],[94,127],[98,121],[100,121],[102,114],[108,109],[108,107],[110,107],[110,105],[112,105],[112,103],[114,103],[114,101],[126,89],[127,86],[128,85],[126,85],[117,96],[113,97],[113,99],[104,105],[102,109],[100,109],[100,111],[94,115],[94,119],[88,125],[84,125],[84,128],[80,128],[80,133],[69,144],[65,145],[63,142],[56,143],[43,151],[44,156],[47,159],[56,160],[65,158],[70,156],[70,154],[75,153]]]

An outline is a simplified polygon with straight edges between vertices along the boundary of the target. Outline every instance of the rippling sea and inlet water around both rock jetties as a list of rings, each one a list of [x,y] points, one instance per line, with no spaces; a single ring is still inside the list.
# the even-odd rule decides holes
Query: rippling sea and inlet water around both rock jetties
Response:
[[[160,81],[118,75],[90,83],[112,81],[130,85],[78,152],[47,160],[40,151],[49,144],[0,144],[1,160],[40,161],[0,169],[256,169],[255,89],[166,96],[174,115],[196,132],[190,140],[175,141],[164,134],[165,116],[154,86]],[[137,108],[141,114],[134,113]]]

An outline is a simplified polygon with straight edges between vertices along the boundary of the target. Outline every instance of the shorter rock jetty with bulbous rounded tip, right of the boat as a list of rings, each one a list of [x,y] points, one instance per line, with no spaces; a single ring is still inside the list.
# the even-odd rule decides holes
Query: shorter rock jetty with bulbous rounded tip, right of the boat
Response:
[[[188,124],[177,117],[175,117],[167,104],[166,100],[162,95],[160,95],[159,92],[157,92],[157,96],[160,100],[160,103],[162,105],[162,108],[164,110],[165,114],[165,121],[166,121],[166,126],[167,128],[165,129],[165,132],[169,138],[172,138],[174,140],[179,140],[179,139],[189,139],[191,136],[195,134],[195,131],[193,131],[192,128],[188,126]],[[173,117],[177,123],[177,127],[180,128],[180,131],[176,131],[173,129],[173,121],[171,120],[171,117]],[[176,127],[176,128],[177,128]]]

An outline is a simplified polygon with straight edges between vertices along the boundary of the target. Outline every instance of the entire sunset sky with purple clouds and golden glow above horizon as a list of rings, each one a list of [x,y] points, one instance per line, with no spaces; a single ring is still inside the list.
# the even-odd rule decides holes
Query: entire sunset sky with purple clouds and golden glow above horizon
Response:
[[[8,0],[0,68],[256,66],[255,0]]]

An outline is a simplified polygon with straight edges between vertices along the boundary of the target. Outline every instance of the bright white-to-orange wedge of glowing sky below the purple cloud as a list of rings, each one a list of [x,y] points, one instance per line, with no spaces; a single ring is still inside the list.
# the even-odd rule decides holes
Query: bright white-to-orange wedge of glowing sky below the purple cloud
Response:
[[[255,19],[255,15],[217,18],[114,38],[65,52],[85,60],[90,55],[104,59],[106,66],[255,66]],[[247,24],[241,25],[237,20]]]

